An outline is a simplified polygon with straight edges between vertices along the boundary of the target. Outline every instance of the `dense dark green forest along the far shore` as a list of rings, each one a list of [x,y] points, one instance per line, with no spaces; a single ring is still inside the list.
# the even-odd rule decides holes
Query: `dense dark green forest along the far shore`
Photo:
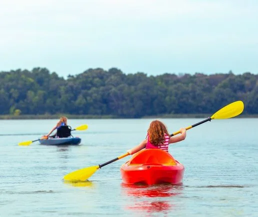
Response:
[[[229,71],[147,76],[90,68],[64,79],[46,68],[0,72],[0,115],[212,114],[236,100],[244,102],[243,114],[258,114],[258,75]]]

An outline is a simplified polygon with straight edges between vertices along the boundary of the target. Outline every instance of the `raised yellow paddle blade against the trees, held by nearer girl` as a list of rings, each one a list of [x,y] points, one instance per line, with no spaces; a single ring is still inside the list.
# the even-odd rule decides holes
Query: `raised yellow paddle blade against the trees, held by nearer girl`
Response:
[[[243,111],[243,107],[244,105],[242,101],[235,101],[218,110],[210,118],[211,119],[232,118],[241,114]]]

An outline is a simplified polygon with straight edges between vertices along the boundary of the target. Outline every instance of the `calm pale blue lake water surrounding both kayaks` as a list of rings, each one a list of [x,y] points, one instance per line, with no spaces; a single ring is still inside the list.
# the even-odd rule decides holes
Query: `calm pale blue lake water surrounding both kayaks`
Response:
[[[169,133],[203,119],[159,119]],[[57,120],[0,120],[0,216],[258,216],[258,119],[212,120],[187,131],[169,153],[185,167],[182,185],[125,186],[119,168],[85,183],[64,183],[72,171],[105,163],[145,138],[150,119],[68,120],[79,146],[17,144],[38,139]]]

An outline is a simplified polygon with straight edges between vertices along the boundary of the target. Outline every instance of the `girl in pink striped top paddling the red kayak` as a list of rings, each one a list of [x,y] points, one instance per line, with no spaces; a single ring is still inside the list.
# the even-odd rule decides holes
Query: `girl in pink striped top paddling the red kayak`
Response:
[[[132,155],[141,149],[161,149],[168,152],[168,145],[170,143],[180,142],[186,137],[185,128],[180,128],[180,135],[170,136],[167,132],[166,126],[158,120],[152,121],[149,125],[146,139],[139,145],[129,149],[127,152]]]

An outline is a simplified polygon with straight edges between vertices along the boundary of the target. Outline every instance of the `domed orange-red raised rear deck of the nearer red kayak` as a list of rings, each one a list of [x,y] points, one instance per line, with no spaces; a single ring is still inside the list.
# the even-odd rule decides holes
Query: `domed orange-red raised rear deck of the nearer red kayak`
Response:
[[[174,158],[161,149],[143,149],[132,155],[129,164],[176,164]]]

